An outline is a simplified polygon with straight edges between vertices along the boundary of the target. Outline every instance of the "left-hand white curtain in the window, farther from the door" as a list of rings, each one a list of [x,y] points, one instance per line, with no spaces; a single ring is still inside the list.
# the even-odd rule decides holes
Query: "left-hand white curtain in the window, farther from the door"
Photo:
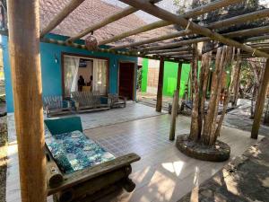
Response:
[[[77,91],[79,57],[64,57],[65,97],[70,97],[71,92]]]

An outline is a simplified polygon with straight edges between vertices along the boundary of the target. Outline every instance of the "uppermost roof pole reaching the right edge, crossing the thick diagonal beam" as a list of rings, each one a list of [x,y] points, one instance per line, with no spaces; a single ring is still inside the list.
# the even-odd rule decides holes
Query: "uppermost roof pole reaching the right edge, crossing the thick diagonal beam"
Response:
[[[239,15],[239,16],[232,17],[232,18],[229,18],[226,20],[213,22],[213,23],[210,23],[209,25],[205,25],[205,27],[207,27],[209,29],[218,29],[218,28],[230,26],[233,24],[238,24],[238,23],[243,23],[243,22],[247,22],[247,21],[254,21],[257,19],[265,18],[265,17],[268,17],[268,15],[269,15],[269,9],[263,9],[261,11],[247,13],[247,14]],[[191,33],[192,33],[192,31],[190,31],[190,30],[176,31],[176,32],[171,33],[171,34],[166,34],[166,35],[152,38],[149,40],[140,40],[140,41],[136,41],[134,43],[129,43],[129,44],[125,44],[125,45],[118,45],[118,46],[115,46],[111,49],[131,48],[131,47],[141,46],[144,44],[154,43],[154,42],[161,41],[161,40],[171,40],[171,39],[175,39],[178,37],[186,36],[186,35],[191,34]]]

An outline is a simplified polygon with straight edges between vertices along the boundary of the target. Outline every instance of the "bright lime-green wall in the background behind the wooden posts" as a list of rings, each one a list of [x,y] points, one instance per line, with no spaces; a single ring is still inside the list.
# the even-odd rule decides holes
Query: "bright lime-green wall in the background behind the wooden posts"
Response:
[[[143,77],[142,77],[142,92],[146,92],[147,88],[147,75],[148,75],[149,59],[143,58]],[[180,80],[180,92],[179,96],[184,94],[185,84],[188,80],[190,65],[183,64],[181,80]],[[163,95],[172,97],[177,87],[178,80],[178,63],[165,62],[164,63],[164,75],[163,75]]]

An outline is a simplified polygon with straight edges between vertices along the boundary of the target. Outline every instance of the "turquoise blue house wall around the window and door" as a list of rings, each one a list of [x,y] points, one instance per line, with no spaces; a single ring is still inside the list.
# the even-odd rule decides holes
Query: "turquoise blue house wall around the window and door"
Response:
[[[49,35],[50,38],[57,40],[65,40],[63,36]],[[82,42],[82,41],[78,41]],[[7,103],[7,112],[13,112],[13,91],[11,83],[11,68],[8,56],[8,38],[2,36],[2,45],[4,48],[4,77],[5,77],[5,94]],[[109,58],[109,88],[108,92],[117,92],[117,74],[118,62],[130,61],[135,62],[137,68],[136,57],[117,56],[108,53],[100,53],[88,51],[85,49],[64,47],[55,44],[40,43],[40,57],[41,57],[41,73],[42,73],[42,88],[43,96],[48,95],[62,95],[62,69],[61,69],[61,54],[74,53],[82,54],[92,57],[107,57]],[[55,62],[57,57],[58,62]],[[136,74],[137,71],[135,71]],[[137,75],[135,75],[136,78]],[[135,79],[136,81],[136,79]],[[33,83],[34,84],[34,83]],[[136,85],[135,85],[136,86]]]

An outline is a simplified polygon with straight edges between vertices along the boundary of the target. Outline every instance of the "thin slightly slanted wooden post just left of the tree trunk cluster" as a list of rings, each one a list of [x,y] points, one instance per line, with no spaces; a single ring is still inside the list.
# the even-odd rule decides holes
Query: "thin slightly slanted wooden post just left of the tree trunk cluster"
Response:
[[[182,71],[182,63],[178,63],[178,82],[177,82],[177,89],[174,92],[173,104],[172,104],[172,119],[170,125],[170,133],[169,133],[169,140],[175,140],[176,134],[176,120],[178,116],[178,96],[180,90],[180,80],[181,80],[181,71]]]

